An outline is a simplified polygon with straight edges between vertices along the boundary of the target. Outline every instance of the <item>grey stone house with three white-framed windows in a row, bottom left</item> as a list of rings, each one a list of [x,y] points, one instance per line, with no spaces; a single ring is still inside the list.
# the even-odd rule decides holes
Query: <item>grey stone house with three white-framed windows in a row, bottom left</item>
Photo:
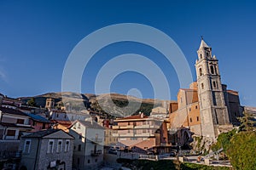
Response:
[[[62,130],[48,129],[22,136],[20,167],[27,170],[71,170],[73,136]]]

